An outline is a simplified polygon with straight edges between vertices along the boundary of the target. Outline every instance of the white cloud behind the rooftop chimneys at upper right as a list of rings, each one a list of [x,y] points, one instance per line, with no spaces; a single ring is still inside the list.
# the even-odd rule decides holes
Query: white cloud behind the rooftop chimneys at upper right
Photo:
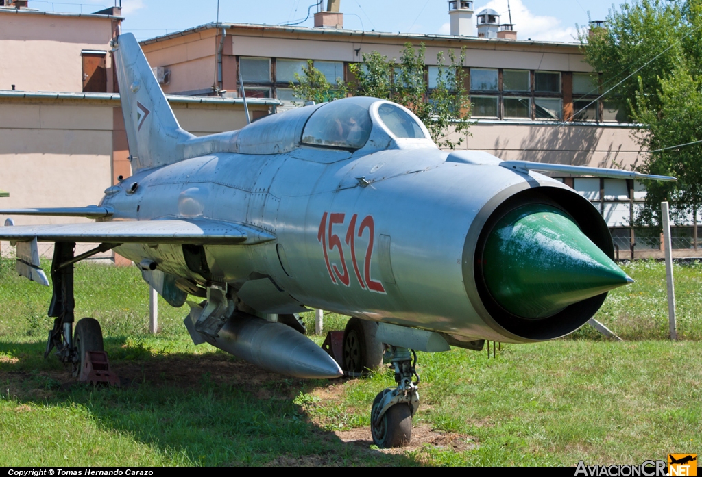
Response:
[[[475,14],[483,8],[492,8],[501,14],[500,22],[510,22],[507,11],[507,0],[490,0],[482,6],[475,7]],[[522,0],[510,0],[510,10],[512,11],[512,23],[517,30],[517,39],[532,39],[537,41],[564,41],[576,43],[578,32],[575,27],[563,27],[561,20],[545,15],[534,15],[529,8],[524,6]],[[475,18],[475,17],[474,17]],[[444,23],[439,29],[439,34],[449,34],[451,28],[449,23]]]

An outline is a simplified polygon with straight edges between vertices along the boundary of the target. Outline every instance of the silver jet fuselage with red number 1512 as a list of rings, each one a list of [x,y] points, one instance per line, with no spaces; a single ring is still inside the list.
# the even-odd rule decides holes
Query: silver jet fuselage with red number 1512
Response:
[[[114,220],[202,217],[269,231],[277,240],[205,247],[212,275],[235,289],[258,273],[309,307],[467,338],[525,341],[479,303],[472,280],[477,233],[510,195],[564,186],[511,172],[496,159],[453,162],[456,155],[447,161],[449,153],[435,147],[362,155],[309,146],[214,153],[135,174],[101,205],[114,208]],[[116,250],[205,282],[188,268],[180,245]]]

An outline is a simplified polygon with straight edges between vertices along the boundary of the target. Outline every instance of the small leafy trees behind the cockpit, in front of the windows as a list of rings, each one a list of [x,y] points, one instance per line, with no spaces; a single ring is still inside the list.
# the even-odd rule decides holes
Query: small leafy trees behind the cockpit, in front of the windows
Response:
[[[332,90],[324,75],[308,62],[303,76],[296,75],[298,85],[291,85],[297,97],[305,101],[320,102],[345,95],[371,96],[402,104],[415,113],[429,130],[438,146],[454,148],[463,143],[469,134],[470,99],[465,90],[463,60],[465,49],[459,57],[449,51],[450,64],[444,64],[444,54],[437,57],[436,85],[431,90],[425,81],[425,46],[415,50],[406,43],[399,62],[380,55],[377,51],[364,53],[363,62],[350,64],[354,81],[338,81]],[[449,137],[451,132],[458,139]]]

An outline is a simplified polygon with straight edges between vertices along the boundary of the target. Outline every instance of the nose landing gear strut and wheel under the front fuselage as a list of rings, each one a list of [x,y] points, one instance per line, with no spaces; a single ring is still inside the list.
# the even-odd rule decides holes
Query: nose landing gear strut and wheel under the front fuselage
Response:
[[[371,408],[371,434],[373,443],[380,448],[403,447],[412,436],[412,417],[419,408],[416,372],[417,354],[403,347],[390,347],[392,365],[395,366],[396,387],[383,389],[373,399]],[[412,381],[412,378],[416,381]]]

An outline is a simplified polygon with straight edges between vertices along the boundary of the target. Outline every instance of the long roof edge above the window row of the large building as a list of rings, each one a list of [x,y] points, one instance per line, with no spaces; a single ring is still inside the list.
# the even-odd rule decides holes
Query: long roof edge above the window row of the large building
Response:
[[[204,32],[208,29],[249,29],[249,30],[260,30],[261,33],[272,33],[272,34],[311,34],[319,36],[340,36],[340,37],[357,37],[361,41],[364,39],[397,39],[402,42],[406,41],[458,41],[460,43],[477,44],[484,45],[486,43],[492,44],[504,44],[504,45],[518,45],[518,46],[559,46],[565,48],[578,48],[579,43],[561,43],[558,41],[534,41],[534,40],[507,40],[501,38],[478,38],[477,36],[459,36],[459,35],[439,35],[439,34],[423,34],[423,33],[390,33],[390,32],[366,32],[365,30],[351,30],[351,29],[336,29],[336,28],[312,28],[312,27],[291,27],[287,25],[258,25],[254,23],[208,23],[206,25],[200,25],[199,27],[193,27],[181,30],[180,32],[169,33],[161,36],[154,36],[139,43],[144,45],[150,45],[152,43],[159,43],[161,41],[167,41],[170,39],[175,39],[180,36],[187,36],[194,33]]]

